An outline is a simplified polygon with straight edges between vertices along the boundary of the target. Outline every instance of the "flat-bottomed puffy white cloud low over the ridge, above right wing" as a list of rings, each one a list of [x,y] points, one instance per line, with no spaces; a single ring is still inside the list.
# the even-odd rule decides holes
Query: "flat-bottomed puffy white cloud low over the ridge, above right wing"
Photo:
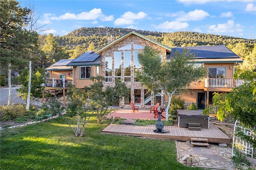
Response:
[[[208,28],[209,33],[222,33],[222,32],[243,32],[242,26],[240,24],[234,24],[233,20],[228,20],[227,23],[211,25]]]

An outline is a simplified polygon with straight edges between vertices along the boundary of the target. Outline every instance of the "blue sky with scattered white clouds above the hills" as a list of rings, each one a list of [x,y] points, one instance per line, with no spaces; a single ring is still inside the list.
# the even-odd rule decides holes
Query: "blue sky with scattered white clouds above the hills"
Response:
[[[45,32],[64,36],[83,27],[192,31],[256,39],[255,0],[18,0],[40,14]]]

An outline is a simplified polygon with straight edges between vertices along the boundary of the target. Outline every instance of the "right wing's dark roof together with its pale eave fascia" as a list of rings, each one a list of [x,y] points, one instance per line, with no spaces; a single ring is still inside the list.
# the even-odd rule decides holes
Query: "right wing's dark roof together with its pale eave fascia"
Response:
[[[196,61],[198,62],[243,62],[240,57],[238,57],[225,45],[175,47],[172,48],[171,55],[168,57],[168,59],[170,59],[170,57],[174,57],[174,53],[176,51],[181,54],[184,49],[188,49],[190,53],[195,54]]]

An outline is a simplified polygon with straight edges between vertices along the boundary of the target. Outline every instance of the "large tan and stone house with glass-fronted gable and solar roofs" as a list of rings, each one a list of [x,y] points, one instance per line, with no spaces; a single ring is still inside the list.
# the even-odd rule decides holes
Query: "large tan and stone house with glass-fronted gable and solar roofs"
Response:
[[[176,51],[182,52],[187,48],[196,55],[196,64],[208,66],[208,77],[202,83],[193,82],[188,91],[177,92],[187,105],[194,102],[198,109],[205,109],[212,104],[212,94],[215,91],[229,92],[238,84],[233,78],[234,66],[242,62],[242,59],[224,45],[171,48],[133,31],[96,52],[87,51],[67,63],[66,66],[73,69],[73,84],[84,88],[92,84],[91,76],[100,75],[105,77],[104,87],[107,87],[114,86],[114,80],[120,79],[131,88],[131,92],[129,97],[124,97],[114,107],[130,108],[130,102],[140,108],[150,108],[158,102],[163,107],[161,95],[150,93],[134,76],[141,69],[137,59],[138,52],[146,45],[160,51],[163,59],[169,59]]]

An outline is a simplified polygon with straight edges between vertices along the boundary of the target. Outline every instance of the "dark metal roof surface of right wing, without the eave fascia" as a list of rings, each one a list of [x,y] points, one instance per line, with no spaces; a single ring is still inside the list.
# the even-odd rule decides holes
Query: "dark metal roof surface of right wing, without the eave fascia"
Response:
[[[228,49],[225,45],[212,45],[212,46],[194,46],[194,47],[175,47],[172,48],[171,56],[179,51],[182,53],[184,49],[188,49],[191,53],[196,55],[196,59],[240,59],[235,53]]]

